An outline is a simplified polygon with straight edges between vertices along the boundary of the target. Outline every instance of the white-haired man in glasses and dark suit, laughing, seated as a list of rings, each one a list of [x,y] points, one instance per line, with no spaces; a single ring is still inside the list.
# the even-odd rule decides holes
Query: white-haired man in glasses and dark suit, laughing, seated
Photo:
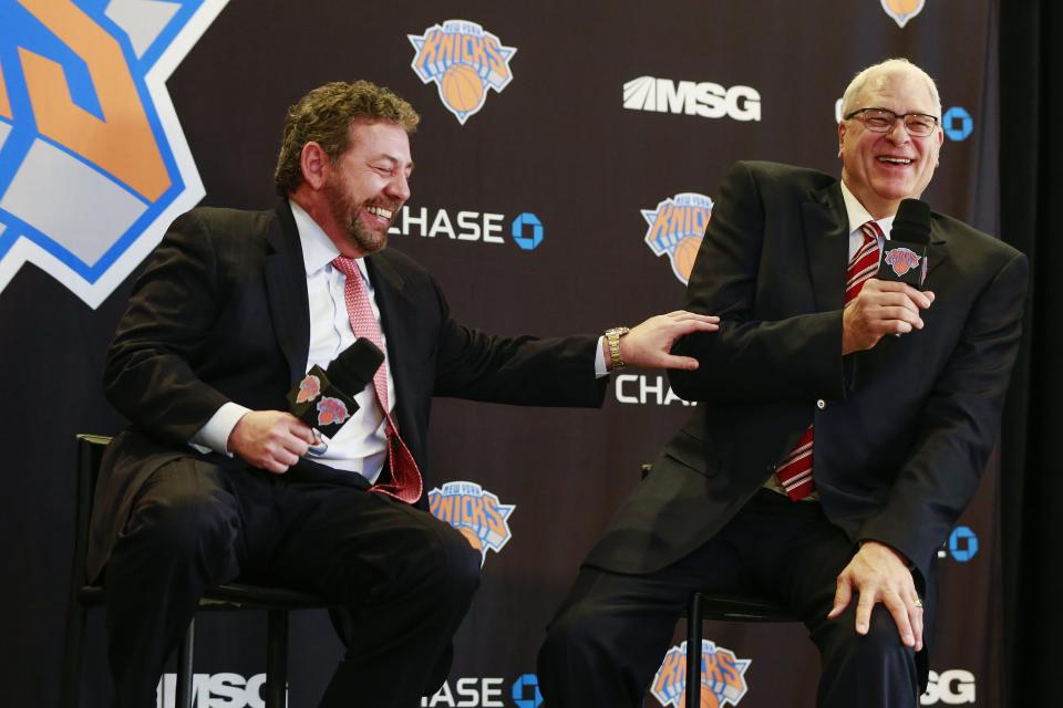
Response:
[[[1026,259],[933,214],[923,290],[864,280],[938,165],[941,104],[904,60],[843,104],[840,181],[740,163],[720,187],[687,293],[720,332],[678,342],[701,366],[671,376],[700,403],[558,611],[549,708],[641,705],[696,589],[801,616],[817,705],[918,704],[936,551],[997,438]]]

